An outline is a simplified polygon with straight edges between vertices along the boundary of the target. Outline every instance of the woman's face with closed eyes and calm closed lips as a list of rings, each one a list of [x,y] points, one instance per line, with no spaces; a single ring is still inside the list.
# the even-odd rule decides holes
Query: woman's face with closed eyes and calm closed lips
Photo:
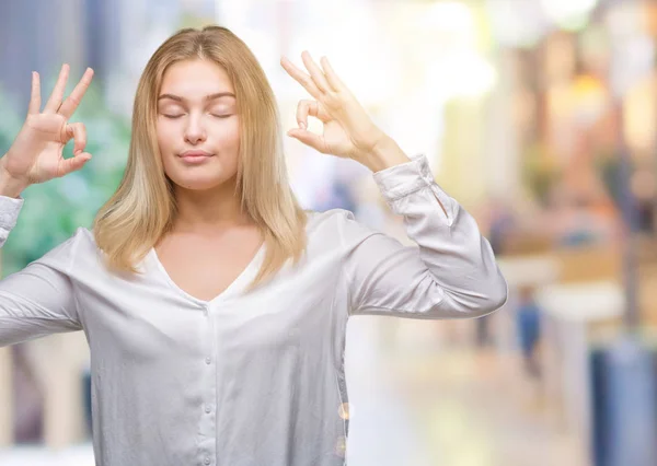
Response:
[[[170,66],[158,97],[164,172],[184,189],[211,189],[238,171],[240,119],[228,74],[209,60]]]

